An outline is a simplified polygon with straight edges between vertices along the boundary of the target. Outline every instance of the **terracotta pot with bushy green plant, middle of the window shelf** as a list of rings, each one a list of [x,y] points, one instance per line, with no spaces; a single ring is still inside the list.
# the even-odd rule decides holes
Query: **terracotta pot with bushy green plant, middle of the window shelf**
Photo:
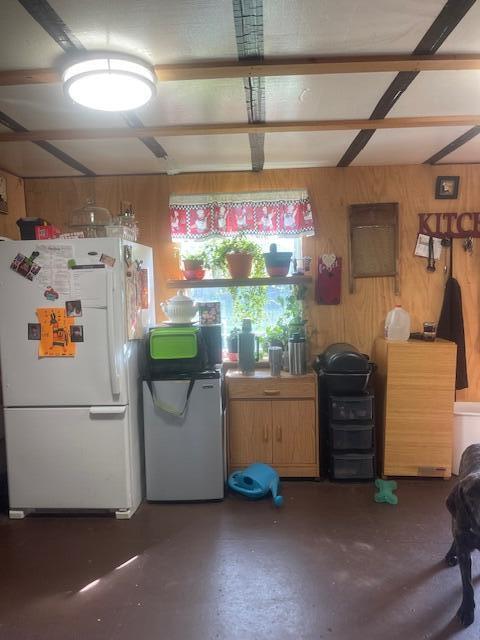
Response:
[[[245,236],[225,238],[211,245],[209,253],[210,266],[222,275],[230,273],[232,278],[249,278],[252,267],[257,277],[265,273],[261,247]]]

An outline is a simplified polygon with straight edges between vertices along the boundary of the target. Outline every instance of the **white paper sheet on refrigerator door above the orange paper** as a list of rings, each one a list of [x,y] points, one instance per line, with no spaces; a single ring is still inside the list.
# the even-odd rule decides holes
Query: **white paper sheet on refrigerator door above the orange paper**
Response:
[[[35,283],[44,290],[51,287],[61,297],[78,297],[75,279],[68,268],[68,261],[74,257],[73,246],[42,243],[35,250],[39,253],[36,262],[41,266]]]

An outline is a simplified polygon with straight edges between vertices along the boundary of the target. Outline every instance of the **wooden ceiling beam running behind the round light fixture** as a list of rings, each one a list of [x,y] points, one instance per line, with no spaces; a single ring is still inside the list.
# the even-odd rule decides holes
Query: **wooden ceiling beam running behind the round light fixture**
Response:
[[[400,71],[475,71],[479,55],[433,56],[355,56],[335,58],[294,58],[263,62],[204,62],[202,64],[156,65],[160,81],[212,80],[216,78],[257,78],[342,73]],[[17,69],[0,71],[0,86],[52,84],[61,81],[56,69]]]

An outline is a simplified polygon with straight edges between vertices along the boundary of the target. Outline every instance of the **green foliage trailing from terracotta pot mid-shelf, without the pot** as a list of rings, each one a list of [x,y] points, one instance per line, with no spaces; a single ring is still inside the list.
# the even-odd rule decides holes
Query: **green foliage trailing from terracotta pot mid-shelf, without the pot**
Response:
[[[254,240],[238,235],[234,238],[210,241],[205,249],[205,265],[212,272],[228,276],[226,261],[227,253],[245,252],[253,256],[252,277],[261,278],[265,275],[265,260],[263,249]],[[252,318],[253,322],[263,319],[267,303],[266,287],[228,287],[233,300],[233,311],[239,320]]]

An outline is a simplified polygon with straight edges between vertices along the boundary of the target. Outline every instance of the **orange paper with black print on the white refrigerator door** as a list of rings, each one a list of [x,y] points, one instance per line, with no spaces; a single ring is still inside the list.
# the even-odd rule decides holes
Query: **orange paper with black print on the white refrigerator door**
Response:
[[[40,323],[39,358],[71,357],[76,354],[76,345],[70,339],[70,327],[74,318],[68,318],[62,307],[37,309]]]

